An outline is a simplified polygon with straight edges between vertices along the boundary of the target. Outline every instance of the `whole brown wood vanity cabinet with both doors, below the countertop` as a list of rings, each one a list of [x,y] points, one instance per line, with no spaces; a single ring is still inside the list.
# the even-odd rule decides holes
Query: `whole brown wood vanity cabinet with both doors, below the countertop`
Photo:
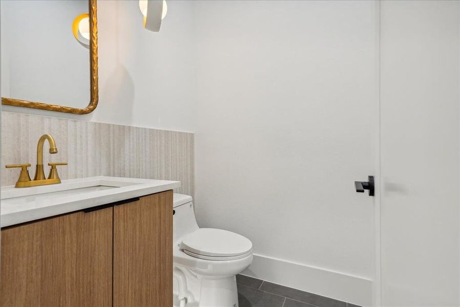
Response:
[[[173,305],[173,191],[2,229],[0,306]]]

